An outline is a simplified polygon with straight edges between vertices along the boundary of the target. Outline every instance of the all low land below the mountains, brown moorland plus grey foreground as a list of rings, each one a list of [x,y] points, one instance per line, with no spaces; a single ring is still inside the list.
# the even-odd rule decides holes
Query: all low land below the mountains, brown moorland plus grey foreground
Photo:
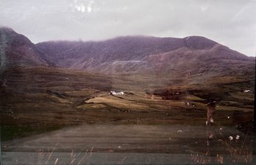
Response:
[[[251,79],[166,86],[173,80],[50,67],[1,75],[4,164],[252,161],[254,93],[243,92],[254,91]],[[213,140],[205,126],[207,95],[218,97]]]

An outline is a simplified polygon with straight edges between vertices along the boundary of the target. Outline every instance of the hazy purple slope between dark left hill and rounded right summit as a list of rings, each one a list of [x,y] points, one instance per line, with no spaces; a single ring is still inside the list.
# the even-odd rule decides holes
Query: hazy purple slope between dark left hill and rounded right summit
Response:
[[[113,65],[141,65],[144,63],[143,58],[150,54],[161,54],[182,46],[185,46],[182,39],[157,37],[118,37],[100,42],[37,44],[37,48],[46,56],[51,56],[58,67],[94,71],[104,68],[105,73],[110,72]]]

